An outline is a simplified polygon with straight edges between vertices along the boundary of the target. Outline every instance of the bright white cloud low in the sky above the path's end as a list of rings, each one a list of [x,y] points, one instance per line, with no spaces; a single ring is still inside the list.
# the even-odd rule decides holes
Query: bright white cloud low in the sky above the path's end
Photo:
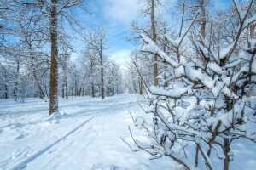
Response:
[[[119,65],[125,65],[125,62],[130,59],[131,50],[129,49],[121,49],[111,54],[110,59],[118,63]]]

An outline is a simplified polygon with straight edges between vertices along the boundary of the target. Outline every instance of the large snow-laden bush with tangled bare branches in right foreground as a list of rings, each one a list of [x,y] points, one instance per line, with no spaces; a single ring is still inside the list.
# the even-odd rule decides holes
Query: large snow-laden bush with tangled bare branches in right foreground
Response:
[[[238,25],[230,44],[213,41],[212,37],[218,35],[212,26],[209,38],[189,35],[197,14],[177,39],[165,36],[172,53],[166,54],[150,37],[141,35],[142,51],[157,54],[168,65],[169,72],[167,78],[159,76],[160,82],[168,82],[167,86],[160,83],[158,87],[148,87],[144,83],[147,105],[142,107],[154,115],[153,121],[137,117],[134,123],[148,133],[151,142],[143,144],[131,133],[137,145],[132,150],[147,151],[154,159],[169,156],[185,169],[193,169],[202,162],[207,169],[213,169],[212,158],[218,156],[224,160],[224,169],[229,169],[233,140],[256,142],[256,102],[246,96],[256,80],[256,39],[243,36],[256,20],[255,14],[248,17],[252,3],[241,10],[234,1]],[[181,53],[183,43],[191,44],[194,58],[188,59]],[[188,154],[194,146],[195,159]],[[198,162],[199,154],[201,162]]]

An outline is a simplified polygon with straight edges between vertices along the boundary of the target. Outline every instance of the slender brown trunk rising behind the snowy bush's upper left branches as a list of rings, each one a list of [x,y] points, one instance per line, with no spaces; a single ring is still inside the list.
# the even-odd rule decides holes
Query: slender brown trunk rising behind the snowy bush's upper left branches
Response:
[[[154,20],[154,7],[155,3],[154,0],[151,0],[151,29],[152,29],[152,39],[156,42],[156,29],[155,29],[155,20]],[[158,86],[158,65],[157,65],[157,55],[154,54],[154,86]]]

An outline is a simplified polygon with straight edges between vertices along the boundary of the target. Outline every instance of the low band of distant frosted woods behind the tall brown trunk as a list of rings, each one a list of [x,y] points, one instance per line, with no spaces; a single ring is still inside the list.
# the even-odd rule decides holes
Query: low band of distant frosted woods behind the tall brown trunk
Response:
[[[122,72],[119,65],[105,59],[101,67],[97,55],[83,50],[78,59],[71,60],[71,53],[60,50],[58,94],[68,96],[102,96],[101,68],[104,69],[103,96],[112,96],[124,92]],[[42,58],[41,58],[42,59]],[[23,101],[26,97],[49,99],[49,56],[44,63],[34,67],[30,59],[20,55],[3,54],[1,61],[1,99]],[[33,69],[32,69],[33,68]]]

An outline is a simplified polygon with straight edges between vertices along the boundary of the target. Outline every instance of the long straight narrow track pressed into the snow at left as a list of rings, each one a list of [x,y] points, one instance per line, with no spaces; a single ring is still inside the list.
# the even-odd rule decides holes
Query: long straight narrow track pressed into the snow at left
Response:
[[[96,116],[98,116],[100,114],[101,113],[98,113],[95,116],[90,117],[88,120],[86,120],[86,121],[82,122],[81,124],[79,124],[79,126],[74,127],[71,131],[69,131],[67,134],[62,136],[60,139],[55,140],[54,143],[47,145],[42,150],[38,150],[38,152],[34,153],[32,156],[27,157],[25,160],[20,161],[18,164],[16,164],[14,167],[11,167],[10,169],[17,170],[17,169],[24,169],[24,168],[26,168],[26,166],[27,166],[27,164],[29,162],[35,160],[36,158],[38,158],[39,156],[44,154],[47,150],[49,150],[50,148],[55,146],[55,144],[60,143],[63,139],[66,139],[69,135],[75,133],[80,127],[83,127],[87,122],[90,122],[91,119],[95,118]]]

